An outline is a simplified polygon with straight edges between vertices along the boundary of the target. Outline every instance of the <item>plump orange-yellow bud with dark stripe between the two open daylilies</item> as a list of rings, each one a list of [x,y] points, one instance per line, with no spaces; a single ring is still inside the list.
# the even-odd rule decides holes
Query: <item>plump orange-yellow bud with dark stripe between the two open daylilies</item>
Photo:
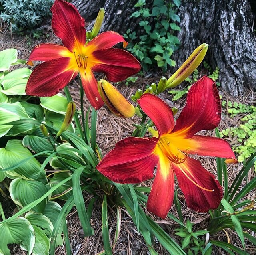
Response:
[[[131,118],[135,114],[134,106],[109,82],[100,79],[98,91],[102,100],[114,115]]]

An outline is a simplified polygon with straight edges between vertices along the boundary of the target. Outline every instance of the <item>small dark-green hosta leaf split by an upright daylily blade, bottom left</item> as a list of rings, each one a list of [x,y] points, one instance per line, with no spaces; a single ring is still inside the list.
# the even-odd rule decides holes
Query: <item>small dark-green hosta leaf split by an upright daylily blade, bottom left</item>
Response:
[[[55,202],[55,201],[48,201],[45,208],[43,215],[48,217],[52,224],[54,225],[55,222],[57,221],[60,211],[61,211],[61,206]],[[61,237],[61,233],[63,232],[63,227],[60,227],[60,231],[57,235],[57,240],[56,240],[56,246],[62,245],[63,244],[63,238]]]

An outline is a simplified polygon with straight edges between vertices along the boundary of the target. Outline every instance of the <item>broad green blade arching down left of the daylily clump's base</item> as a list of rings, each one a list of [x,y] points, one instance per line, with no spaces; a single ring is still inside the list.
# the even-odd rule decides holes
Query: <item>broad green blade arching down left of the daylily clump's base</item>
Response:
[[[90,225],[88,214],[86,213],[84,198],[83,198],[83,194],[80,186],[80,176],[84,171],[84,169],[85,169],[84,166],[77,168],[72,176],[73,194],[74,194],[74,199],[76,204],[76,210],[77,210],[79,219],[81,221],[82,227],[84,229],[84,235],[90,236],[90,235],[93,235],[93,233],[92,233],[92,228]]]

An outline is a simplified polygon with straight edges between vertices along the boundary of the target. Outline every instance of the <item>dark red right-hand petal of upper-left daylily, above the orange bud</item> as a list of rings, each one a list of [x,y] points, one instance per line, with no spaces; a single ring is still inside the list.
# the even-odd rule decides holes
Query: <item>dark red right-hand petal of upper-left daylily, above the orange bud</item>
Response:
[[[140,71],[139,61],[123,49],[99,49],[92,53],[95,62],[92,70],[106,74],[109,81],[117,82]]]

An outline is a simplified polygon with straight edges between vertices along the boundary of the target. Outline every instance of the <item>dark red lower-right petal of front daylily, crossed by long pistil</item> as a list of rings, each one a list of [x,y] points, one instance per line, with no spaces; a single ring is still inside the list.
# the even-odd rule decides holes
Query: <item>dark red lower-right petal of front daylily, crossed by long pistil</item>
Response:
[[[188,157],[182,164],[172,163],[172,167],[189,208],[207,212],[219,206],[223,196],[222,187],[198,160]]]

